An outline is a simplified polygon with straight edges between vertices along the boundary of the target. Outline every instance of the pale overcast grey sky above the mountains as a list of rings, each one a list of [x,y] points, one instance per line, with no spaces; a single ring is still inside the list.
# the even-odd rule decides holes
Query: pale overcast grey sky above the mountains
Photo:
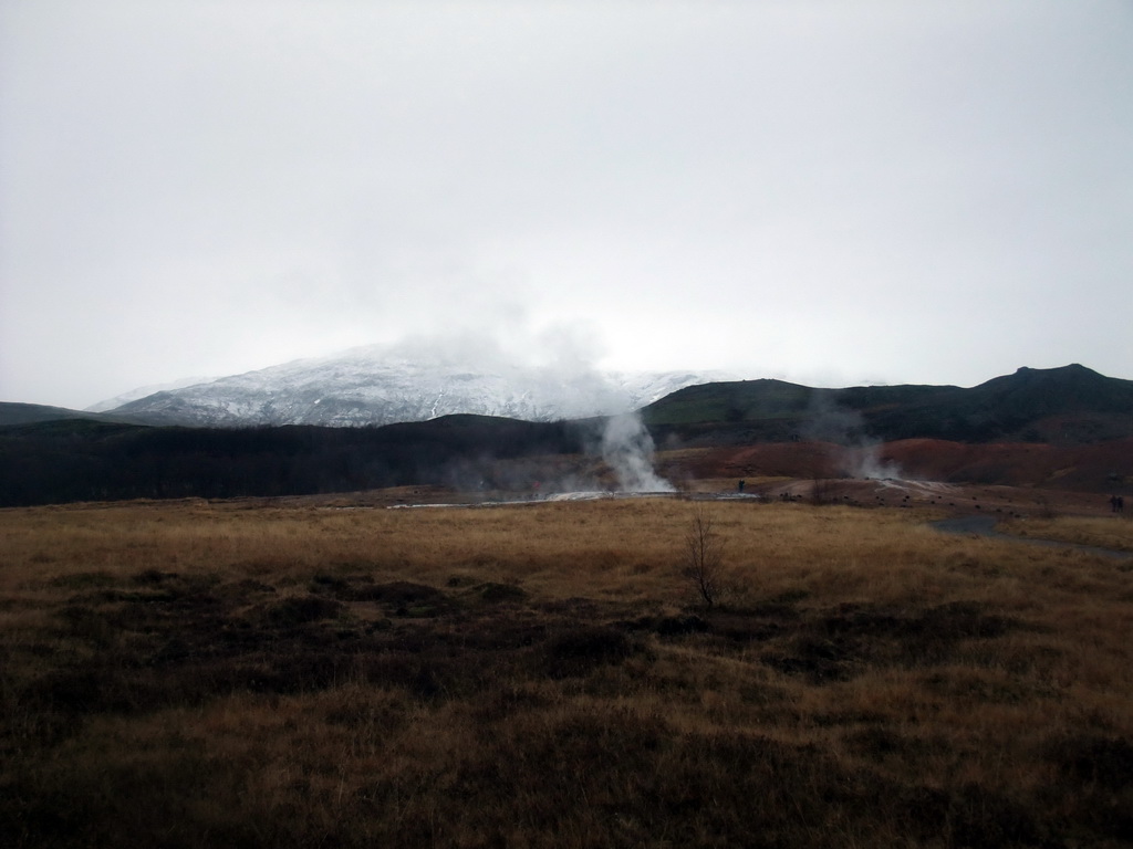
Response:
[[[0,0],[0,401],[407,338],[1133,379],[1133,1]]]

